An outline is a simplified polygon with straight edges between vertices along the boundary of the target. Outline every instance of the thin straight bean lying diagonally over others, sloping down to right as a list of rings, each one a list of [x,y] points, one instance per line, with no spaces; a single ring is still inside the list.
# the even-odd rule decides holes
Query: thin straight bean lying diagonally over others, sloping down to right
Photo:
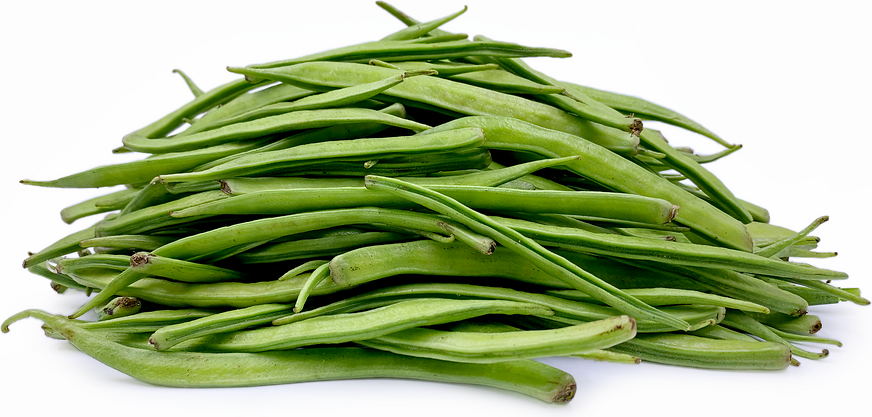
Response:
[[[385,190],[389,193],[408,198],[430,210],[434,210],[462,223],[477,233],[489,236],[500,245],[509,248],[512,252],[524,256],[536,267],[572,285],[573,288],[582,290],[597,300],[614,307],[618,311],[630,314],[638,320],[653,320],[677,329],[689,327],[689,324],[685,321],[663,313],[626,295],[621,290],[584,271],[565,258],[548,251],[532,239],[469,209],[449,197],[395,178],[368,175],[365,178],[365,184],[367,188]]]

